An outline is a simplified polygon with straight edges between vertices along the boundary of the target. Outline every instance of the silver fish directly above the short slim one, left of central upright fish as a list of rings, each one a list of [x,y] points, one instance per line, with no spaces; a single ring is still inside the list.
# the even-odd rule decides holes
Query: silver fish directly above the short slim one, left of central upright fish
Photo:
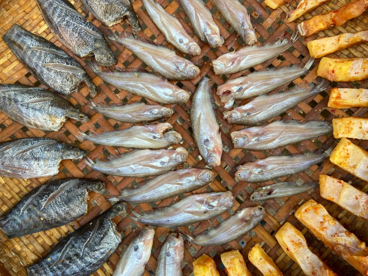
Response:
[[[191,95],[189,92],[180,89],[167,80],[163,80],[152,74],[140,72],[103,72],[94,63],[91,63],[90,67],[100,78],[115,87],[161,104],[186,103]]]

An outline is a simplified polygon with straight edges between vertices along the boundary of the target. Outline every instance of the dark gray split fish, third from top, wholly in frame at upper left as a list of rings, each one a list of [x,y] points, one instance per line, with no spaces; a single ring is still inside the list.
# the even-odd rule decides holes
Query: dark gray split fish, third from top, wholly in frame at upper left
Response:
[[[96,86],[82,65],[45,38],[15,24],[2,39],[25,68],[44,85],[68,95],[76,92],[78,85],[84,82],[91,94],[96,95]]]

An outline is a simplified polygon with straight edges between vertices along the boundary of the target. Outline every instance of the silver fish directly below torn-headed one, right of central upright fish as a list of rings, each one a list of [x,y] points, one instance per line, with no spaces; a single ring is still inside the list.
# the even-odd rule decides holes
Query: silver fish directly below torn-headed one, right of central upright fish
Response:
[[[328,83],[321,81],[316,87],[309,89],[296,88],[288,92],[258,96],[244,106],[225,112],[224,119],[229,124],[246,126],[259,125],[264,121],[272,119],[288,109],[294,107],[301,101],[319,94],[325,90]]]

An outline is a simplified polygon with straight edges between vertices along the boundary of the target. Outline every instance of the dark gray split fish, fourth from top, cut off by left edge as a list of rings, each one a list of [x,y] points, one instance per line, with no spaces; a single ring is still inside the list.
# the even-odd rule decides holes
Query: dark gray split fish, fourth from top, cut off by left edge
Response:
[[[0,84],[0,110],[27,128],[57,132],[67,117],[82,122],[90,117],[64,98],[40,87]]]

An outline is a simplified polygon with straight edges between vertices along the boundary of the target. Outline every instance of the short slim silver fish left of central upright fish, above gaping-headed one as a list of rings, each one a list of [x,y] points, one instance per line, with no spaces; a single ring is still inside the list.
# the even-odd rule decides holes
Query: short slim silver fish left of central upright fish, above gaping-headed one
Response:
[[[167,107],[150,106],[143,103],[103,107],[91,101],[91,106],[90,108],[94,111],[125,123],[152,122],[162,118],[169,118],[173,114],[172,110]]]

